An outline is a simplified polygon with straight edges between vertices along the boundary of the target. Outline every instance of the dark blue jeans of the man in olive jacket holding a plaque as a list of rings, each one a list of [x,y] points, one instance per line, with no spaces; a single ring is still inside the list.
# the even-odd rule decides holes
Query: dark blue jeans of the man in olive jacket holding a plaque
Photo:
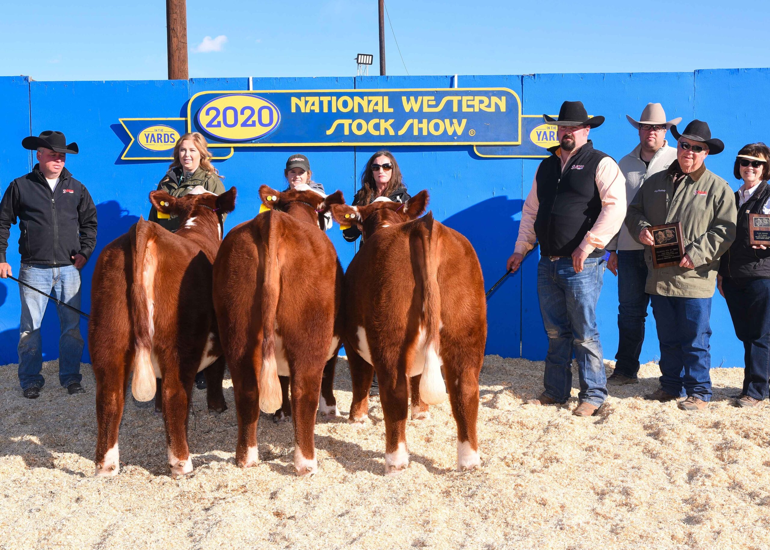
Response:
[[[711,298],[652,294],[650,299],[661,343],[661,388],[711,401]]]

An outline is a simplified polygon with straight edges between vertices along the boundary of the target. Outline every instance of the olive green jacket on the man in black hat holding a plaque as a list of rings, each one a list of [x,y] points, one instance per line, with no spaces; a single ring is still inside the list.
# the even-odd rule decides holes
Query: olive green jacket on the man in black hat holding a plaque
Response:
[[[644,246],[647,285],[644,291],[660,296],[710,298],[714,295],[719,257],[735,240],[735,196],[724,179],[701,166],[681,179],[674,190],[674,162],[653,174],[637,193],[626,214],[634,240],[645,227],[681,222],[682,240],[695,269],[652,267],[651,246]]]

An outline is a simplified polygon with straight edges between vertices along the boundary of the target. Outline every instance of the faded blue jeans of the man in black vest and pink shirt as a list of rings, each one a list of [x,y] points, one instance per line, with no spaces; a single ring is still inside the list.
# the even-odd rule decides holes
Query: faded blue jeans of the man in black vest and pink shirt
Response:
[[[564,403],[572,389],[572,355],[577,359],[581,402],[600,407],[607,398],[607,376],[596,326],[596,303],[604,277],[604,260],[587,258],[575,273],[571,258],[537,264],[537,296],[548,334],[544,393]]]

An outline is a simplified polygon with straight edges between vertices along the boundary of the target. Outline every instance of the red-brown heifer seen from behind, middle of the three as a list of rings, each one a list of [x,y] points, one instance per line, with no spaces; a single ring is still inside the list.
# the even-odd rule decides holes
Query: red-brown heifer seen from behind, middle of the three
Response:
[[[312,475],[322,377],[326,410],[321,412],[336,414],[331,384],[342,295],[340,260],[320,220],[344,199],[340,191],[324,198],[311,190],[279,193],[264,185],[259,196],[269,211],[233,228],[214,263],[214,307],[238,415],[236,462],[249,467],[259,460],[259,410],[281,408],[278,376],[288,376],[294,467],[299,475]]]

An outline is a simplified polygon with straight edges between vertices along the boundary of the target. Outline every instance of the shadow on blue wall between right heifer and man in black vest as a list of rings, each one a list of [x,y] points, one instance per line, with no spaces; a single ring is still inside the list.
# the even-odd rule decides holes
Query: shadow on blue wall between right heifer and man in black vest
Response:
[[[505,263],[514,250],[519,233],[519,221],[524,201],[495,196],[461,210],[444,220],[444,225],[462,233],[474,246],[484,273],[484,290],[505,273]],[[521,278],[508,277],[487,301],[487,319],[504,319],[489,324],[487,345],[496,343],[495,353],[503,357],[518,357],[521,352]],[[489,351],[487,351],[489,353]]]

